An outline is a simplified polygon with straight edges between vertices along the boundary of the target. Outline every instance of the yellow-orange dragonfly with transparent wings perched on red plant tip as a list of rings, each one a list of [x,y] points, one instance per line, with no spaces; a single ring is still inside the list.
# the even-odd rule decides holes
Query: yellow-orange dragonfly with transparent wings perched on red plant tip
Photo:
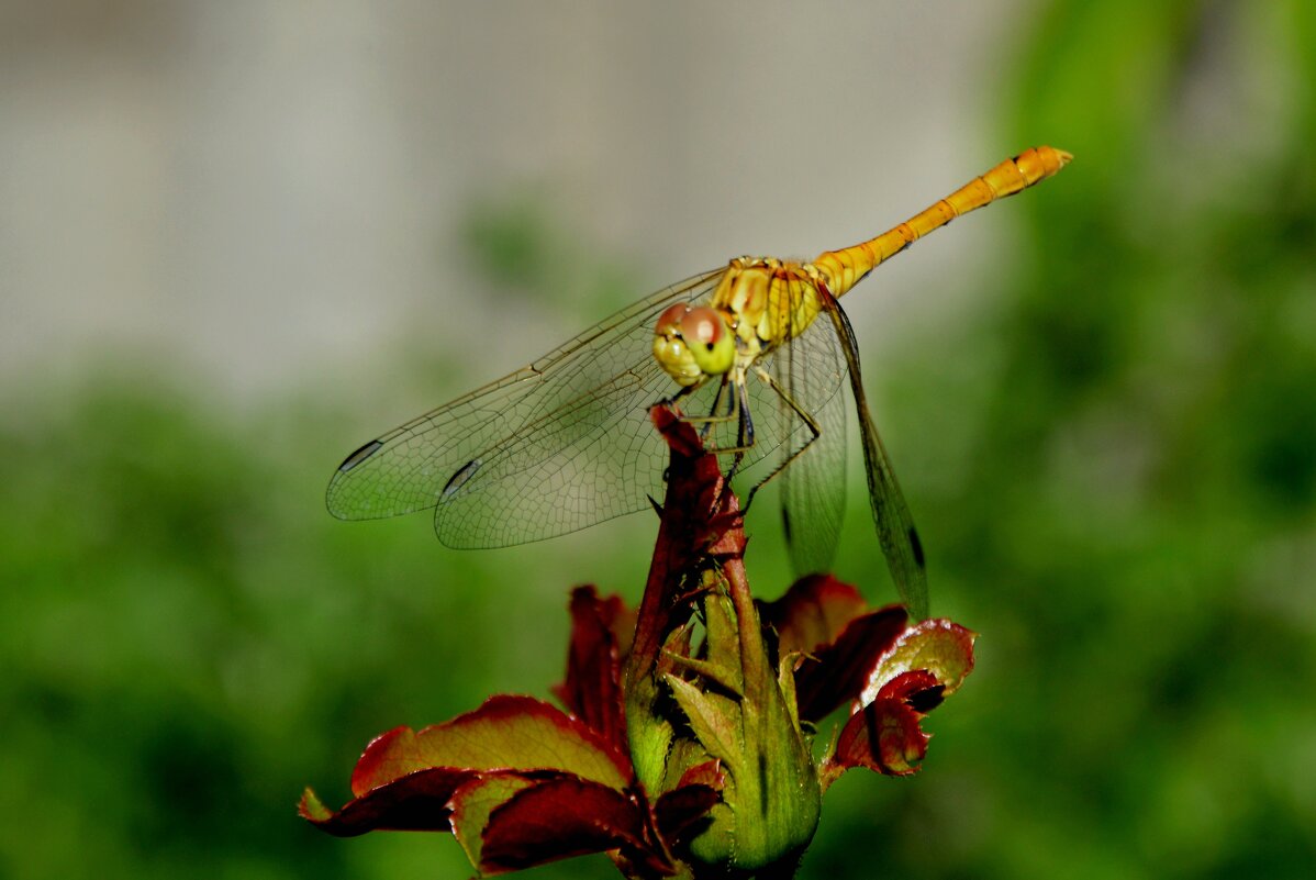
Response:
[[[866,403],[840,297],[955,217],[1057,174],[1071,155],[1005,159],[880,235],[812,262],[740,257],[666,287],[538,360],[362,445],[329,483],[329,512],[375,520],[433,509],[450,547],[505,547],[650,508],[667,447],[649,421],[680,406],[728,474],[782,481],[797,574],[826,571],[845,504],[849,378],[878,542],[926,617],[923,545]],[[766,474],[765,474],[766,470]],[[754,476],[757,475],[757,476]]]

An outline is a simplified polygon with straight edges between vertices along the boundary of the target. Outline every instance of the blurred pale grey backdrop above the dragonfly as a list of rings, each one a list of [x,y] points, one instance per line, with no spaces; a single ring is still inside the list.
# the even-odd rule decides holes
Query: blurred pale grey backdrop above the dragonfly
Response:
[[[1032,5],[4,4],[0,367],[146,347],[247,397],[422,337],[501,375],[603,313],[500,299],[461,259],[472,205],[550,200],[634,297],[853,243],[1029,146],[994,89]],[[953,288],[1011,224],[888,289]]]

